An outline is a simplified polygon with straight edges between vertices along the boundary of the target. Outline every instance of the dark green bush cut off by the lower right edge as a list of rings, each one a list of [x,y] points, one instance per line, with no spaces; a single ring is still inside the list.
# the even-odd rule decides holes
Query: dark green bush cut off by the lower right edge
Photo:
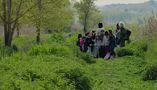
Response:
[[[150,67],[144,72],[143,80],[157,80],[157,65]]]

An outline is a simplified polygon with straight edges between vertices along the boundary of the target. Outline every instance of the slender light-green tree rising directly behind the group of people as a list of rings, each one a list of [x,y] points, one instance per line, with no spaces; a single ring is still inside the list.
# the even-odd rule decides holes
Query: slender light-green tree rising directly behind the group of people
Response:
[[[92,17],[92,14],[98,11],[94,2],[95,0],[81,0],[80,2],[77,2],[75,4],[75,7],[77,8],[79,13],[80,22],[84,26],[84,33],[88,31],[88,28],[90,26],[90,17]]]

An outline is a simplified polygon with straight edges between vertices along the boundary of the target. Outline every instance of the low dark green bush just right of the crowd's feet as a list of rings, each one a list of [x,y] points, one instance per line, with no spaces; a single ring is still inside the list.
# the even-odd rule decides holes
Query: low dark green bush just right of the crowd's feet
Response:
[[[118,57],[123,57],[123,56],[133,56],[134,51],[129,48],[117,48],[116,53]]]

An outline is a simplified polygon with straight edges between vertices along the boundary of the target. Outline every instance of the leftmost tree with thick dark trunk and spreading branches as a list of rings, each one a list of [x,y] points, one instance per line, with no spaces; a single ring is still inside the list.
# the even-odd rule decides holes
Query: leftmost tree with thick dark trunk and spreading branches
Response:
[[[19,19],[23,17],[30,9],[35,5],[31,6],[29,0],[1,0],[1,13],[0,18],[3,22],[4,27],[4,41],[5,46],[11,47],[13,34],[18,25]],[[29,7],[24,7],[28,6]]]

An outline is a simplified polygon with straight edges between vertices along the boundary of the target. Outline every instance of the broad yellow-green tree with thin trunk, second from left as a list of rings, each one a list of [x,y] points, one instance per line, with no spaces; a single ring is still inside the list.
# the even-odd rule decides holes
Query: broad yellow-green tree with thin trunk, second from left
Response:
[[[27,14],[27,18],[36,27],[37,43],[40,42],[41,30],[59,31],[70,26],[73,14],[69,0],[35,0],[33,3],[38,3],[38,6]]]

